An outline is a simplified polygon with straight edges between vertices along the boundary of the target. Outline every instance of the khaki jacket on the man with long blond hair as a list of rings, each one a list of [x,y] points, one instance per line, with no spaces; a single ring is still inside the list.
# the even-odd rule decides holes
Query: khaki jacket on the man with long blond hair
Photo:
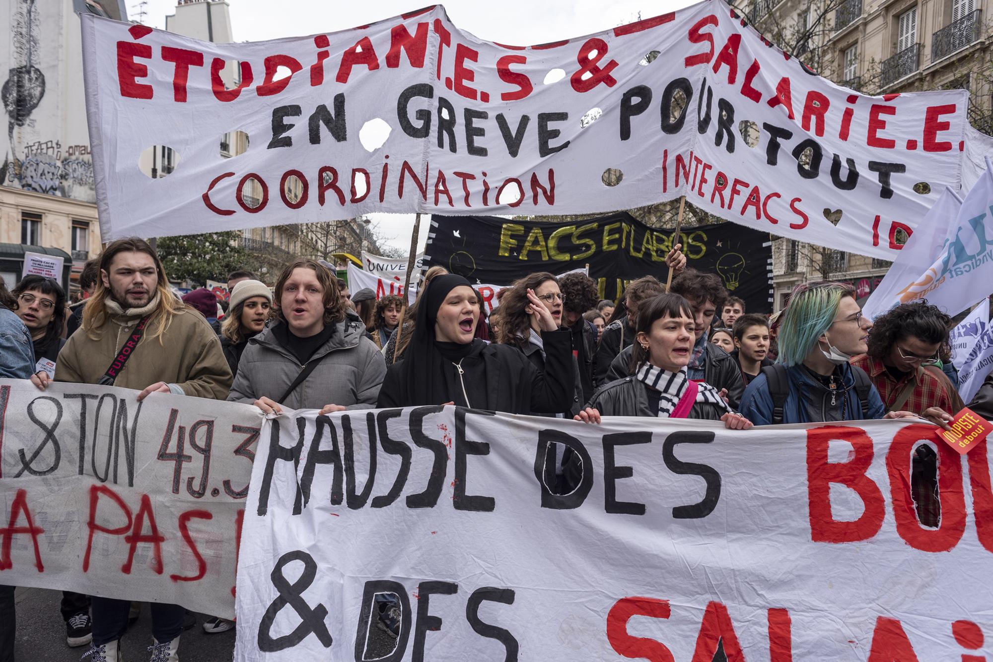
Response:
[[[96,384],[131,331],[142,317],[155,310],[158,295],[144,308],[126,312],[116,301],[107,300],[107,321],[93,340],[84,328],[73,333],[59,354],[56,381]],[[156,382],[176,386],[187,395],[225,399],[231,387],[231,370],[227,367],[220,341],[202,314],[181,308],[161,338],[153,338],[158,321],[149,324],[138,347],[117,376],[114,386],[142,390]]]

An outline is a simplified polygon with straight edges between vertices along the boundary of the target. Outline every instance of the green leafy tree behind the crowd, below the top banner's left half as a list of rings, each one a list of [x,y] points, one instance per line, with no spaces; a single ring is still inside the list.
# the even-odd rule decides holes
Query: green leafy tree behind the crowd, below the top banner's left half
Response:
[[[158,241],[159,258],[173,280],[192,280],[199,285],[224,280],[230,272],[245,269],[250,262],[241,248],[241,233],[213,232],[204,235],[163,237]]]

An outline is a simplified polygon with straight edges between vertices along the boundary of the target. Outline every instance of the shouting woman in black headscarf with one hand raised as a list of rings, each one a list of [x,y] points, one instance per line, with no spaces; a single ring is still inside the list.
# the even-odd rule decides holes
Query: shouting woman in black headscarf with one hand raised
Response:
[[[519,350],[474,338],[480,301],[469,280],[435,277],[421,294],[410,345],[403,360],[388,367],[376,406],[454,402],[508,413],[568,409],[573,390],[569,331],[558,330],[533,291],[528,298],[544,343],[544,373]]]

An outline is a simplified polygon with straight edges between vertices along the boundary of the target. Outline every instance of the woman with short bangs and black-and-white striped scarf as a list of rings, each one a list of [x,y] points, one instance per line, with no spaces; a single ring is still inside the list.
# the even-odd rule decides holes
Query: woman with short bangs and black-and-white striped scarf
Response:
[[[652,416],[721,420],[733,430],[752,427],[751,421],[728,406],[717,388],[689,379],[686,367],[694,344],[694,313],[686,299],[679,294],[659,294],[642,301],[632,375],[601,386],[575,419]]]

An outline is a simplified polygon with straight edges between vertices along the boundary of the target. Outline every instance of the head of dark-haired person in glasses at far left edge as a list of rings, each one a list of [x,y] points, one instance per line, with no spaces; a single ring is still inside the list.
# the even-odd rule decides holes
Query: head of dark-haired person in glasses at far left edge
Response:
[[[31,333],[35,346],[35,371],[55,376],[56,360],[66,339],[66,292],[52,278],[24,276],[11,291],[17,299],[17,316]]]

